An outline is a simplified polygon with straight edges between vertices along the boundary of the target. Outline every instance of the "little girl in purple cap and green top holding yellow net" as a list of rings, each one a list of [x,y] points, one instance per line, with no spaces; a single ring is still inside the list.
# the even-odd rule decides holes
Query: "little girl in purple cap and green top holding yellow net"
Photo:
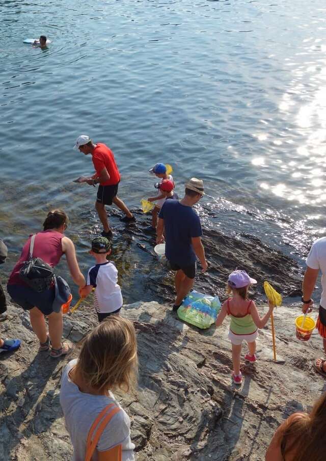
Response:
[[[255,303],[248,299],[250,285],[254,283],[257,283],[257,280],[249,277],[246,271],[234,270],[229,275],[227,285],[227,293],[232,293],[232,297],[224,302],[216,319],[216,327],[220,327],[227,315],[231,318],[229,339],[232,343],[232,378],[235,384],[242,382],[240,371],[242,341],[247,341],[249,347],[249,354],[244,356],[244,360],[251,363],[256,362],[258,328],[263,328],[266,325],[274,309],[274,305],[268,303],[268,312],[260,318]]]

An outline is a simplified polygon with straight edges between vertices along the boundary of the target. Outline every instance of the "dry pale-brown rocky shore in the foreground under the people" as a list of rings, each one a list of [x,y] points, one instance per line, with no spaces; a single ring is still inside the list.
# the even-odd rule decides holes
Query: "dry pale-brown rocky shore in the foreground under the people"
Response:
[[[260,306],[261,312],[266,309]],[[237,387],[230,378],[227,321],[219,329],[200,331],[179,321],[165,304],[124,306],[122,315],[137,330],[139,387],[134,394],[116,396],[131,418],[138,461],[263,460],[282,420],[309,408],[326,390],[312,367],[312,359],[321,355],[320,338],[317,333],[306,343],[295,338],[298,312],[300,306],[277,308],[278,363],[272,359],[267,326],[259,332],[259,360],[242,364],[243,384]],[[19,337],[22,346],[0,356],[0,459],[71,459],[59,403],[60,376],[96,322],[86,304],[66,315],[64,336],[75,349],[69,358],[55,361],[48,352],[38,352],[28,314],[9,304],[2,336]]]

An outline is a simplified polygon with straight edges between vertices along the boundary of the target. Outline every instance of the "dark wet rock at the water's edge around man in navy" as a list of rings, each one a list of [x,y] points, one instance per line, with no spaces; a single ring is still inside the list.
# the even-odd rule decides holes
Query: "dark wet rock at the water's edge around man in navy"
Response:
[[[128,290],[128,279],[124,279],[128,299],[157,300],[172,302],[174,299],[173,273],[168,272],[163,264],[159,264],[154,253],[155,235],[148,233],[146,228],[150,221],[143,213],[134,210],[137,221],[123,228],[116,224],[119,213],[110,211],[110,220],[114,227],[113,258],[116,261],[116,250],[121,257],[121,241],[124,245],[138,247],[138,257],[141,261],[132,274],[132,286]],[[243,269],[257,279],[257,287],[253,287],[256,300],[265,299],[262,283],[267,280],[273,283],[275,289],[283,296],[301,296],[302,269],[297,262],[284,253],[274,250],[259,238],[247,233],[238,237],[227,236],[214,229],[203,228],[203,245],[208,260],[206,274],[201,274],[198,264],[198,275],[194,287],[207,294],[218,294],[225,299],[225,285],[232,270]],[[119,263],[118,263],[119,265]],[[120,269],[120,268],[119,268]],[[138,270],[139,269],[139,270]],[[140,277],[141,276],[141,277]],[[136,297],[132,297],[135,293]]]

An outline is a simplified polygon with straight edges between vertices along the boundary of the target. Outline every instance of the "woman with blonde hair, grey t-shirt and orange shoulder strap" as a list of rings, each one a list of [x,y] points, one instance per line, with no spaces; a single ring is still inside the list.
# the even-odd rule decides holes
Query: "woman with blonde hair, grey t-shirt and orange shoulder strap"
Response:
[[[61,378],[60,403],[73,445],[73,461],[134,460],[130,420],[111,391],[133,388],[137,368],[137,342],[129,320],[112,315],[87,335],[79,358],[68,363]],[[90,429],[95,420],[103,421],[104,415],[98,417],[108,405],[107,413],[115,414],[105,425],[93,455],[87,457]],[[98,427],[97,423],[93,440]]]

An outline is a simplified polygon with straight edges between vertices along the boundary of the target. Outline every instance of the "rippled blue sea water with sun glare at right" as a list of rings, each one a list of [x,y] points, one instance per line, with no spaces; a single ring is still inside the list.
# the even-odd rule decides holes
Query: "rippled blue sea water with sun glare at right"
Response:
[[[5,271],[53,206],[90,265],[95,189],[72,182],[92,172],[72,150],[81,133],[113,149],[132,209],[153,193],[148,169],[167,162],[179,193],[188,177],[204,180],[206,227],[301,261],[325,231],[325,14],[322,0],[0,2]],[[40,34],[47,49],[22,43]],[[133,299],[155,261],[112,224]]]

